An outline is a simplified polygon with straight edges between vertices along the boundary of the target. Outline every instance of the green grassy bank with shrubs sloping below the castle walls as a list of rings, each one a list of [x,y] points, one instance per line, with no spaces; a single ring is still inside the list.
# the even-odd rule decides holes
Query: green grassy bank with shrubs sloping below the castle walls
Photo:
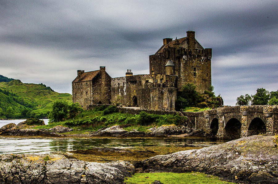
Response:
[[[105,110],[108,109],[108,110]],[[112,109],[112,110],[111,110]],[[120,125],[127,131],[136,129],[137,131],[148,132],[148,129],[161,125],[187,125],[187,117],[179,115],[156,115],[140,112],[140,114],[125,114],[114,112],[111,106],[99,107],[81,112],[73,119],[61,122],[49,122],[48,125],[36,126],[34,129],[50,129],[57,125],[70,127],[74,131],[63,134],[78,134],[95,132],[105,127]],[[108,113],[107,111],[111,112]],[[107,114],[108,113],[108,114]]]

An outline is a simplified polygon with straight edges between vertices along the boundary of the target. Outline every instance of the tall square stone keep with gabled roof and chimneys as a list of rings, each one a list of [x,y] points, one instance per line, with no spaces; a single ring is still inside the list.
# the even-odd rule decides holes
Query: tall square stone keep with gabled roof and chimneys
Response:
[[[211,86],[212,49],[203,48],[195,39],[195,31],[187,31],[180,39],[165,38],[163,45],[154,55],[150,55],[150,74],[177,76],[178,90],[184,84],[193,83],[196,90],[203,93]],[[169,61],[173,73],[169,73]]]

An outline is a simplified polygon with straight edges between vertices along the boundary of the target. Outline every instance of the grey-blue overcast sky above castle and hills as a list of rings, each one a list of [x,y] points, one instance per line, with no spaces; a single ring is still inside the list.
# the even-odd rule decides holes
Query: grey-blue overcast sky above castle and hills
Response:
[[[0,74],[71,94],[77,70],[149,73],[162,39],[196,32],[212,48],[225,105],[278,89],[278,1],[0,0]]]

